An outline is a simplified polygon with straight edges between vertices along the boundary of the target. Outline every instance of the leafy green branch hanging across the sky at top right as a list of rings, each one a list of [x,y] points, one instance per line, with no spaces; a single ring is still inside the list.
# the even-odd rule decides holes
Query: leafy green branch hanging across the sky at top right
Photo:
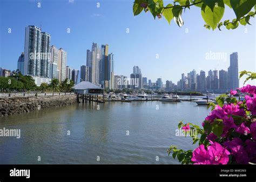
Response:
[[[241,25],[251,25],[250,18],[256,14],[256,0],[174,0],[173,4],[164,5],[163,0],[135,0],[133,3],[134,16],[139,15],[143,10],[150,11],[154,19],[162,16],[171,23],[172,19],[178,26],[183,26],[182,13],[192,6],[200,8],[201,16],[205,21],[205,28],[214,30],[225,26],[226,29],[236,29]],[[254,8],[253,8],[254,7]],[[235,18],[221,22],[225,8],[234,11]]]

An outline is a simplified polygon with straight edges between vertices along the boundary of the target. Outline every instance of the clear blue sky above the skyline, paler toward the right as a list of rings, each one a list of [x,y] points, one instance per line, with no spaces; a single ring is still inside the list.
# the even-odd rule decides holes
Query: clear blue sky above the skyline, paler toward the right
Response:
[[[68,52],[67,65],[73,69],[86,64],[86,49],[95,42],[109,44],[109,52],[115,55],[115,74],[130,76],[137,65],[153,82],[162,78],[177,83],[181,73],[186,75],[192,69],[198,73],[227,70],[232,52],[238,52],[239,71],[256,70],[254,19],[252,26],[210,31],[203,27],[200,9],[192,7],[183,12],[185,23],[179,28],[164,17],[154,20],[150,13],[134,17],[132,5],[133,0],[1,0],[0,66],[16,70],[24,51],[25,26],[42,25],[42,31],[51,35],[51,44]],[[226,6],[223,19],[233,18],[234,12]],[[227,59],[209,60],[206,55],[210,52],[223,53]]]

